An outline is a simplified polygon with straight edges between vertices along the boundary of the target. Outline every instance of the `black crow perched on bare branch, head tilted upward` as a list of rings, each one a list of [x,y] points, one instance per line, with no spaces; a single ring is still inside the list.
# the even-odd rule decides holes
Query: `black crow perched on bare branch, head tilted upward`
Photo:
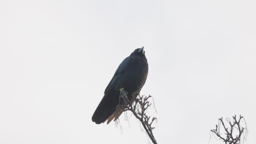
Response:
[[[136,49],[119,65],[104,91],[104,97],[92,115],[92,122],[101,124],[108,120],[108,124],[112,119],[117,120],[123,112],[123,109],[117,109],[120,88],[128,92],[129,100],[141,91],[148,76],[148,62],[143,49],[144,47]]]

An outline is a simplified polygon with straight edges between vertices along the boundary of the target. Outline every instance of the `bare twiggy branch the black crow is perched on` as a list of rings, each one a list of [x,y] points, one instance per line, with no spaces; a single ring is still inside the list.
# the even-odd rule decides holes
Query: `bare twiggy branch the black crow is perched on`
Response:
[[[157,144],[153,134],[154,127],[152,127],[152,123],[156,121],[156,117],[151,118],[146,113],[147,109],[152,105],[152,103],[149,101],[152,96],[141,96],[139,94],[135,94],[134,98],[129,100],[129,98],[127,98],[127,94],[128,93],[124,90],[124,88],[120,89],[118,106],[124,107],[124,111],[131,111],[143,125],[143,128],[150,140],[152,140],[154,144]]]

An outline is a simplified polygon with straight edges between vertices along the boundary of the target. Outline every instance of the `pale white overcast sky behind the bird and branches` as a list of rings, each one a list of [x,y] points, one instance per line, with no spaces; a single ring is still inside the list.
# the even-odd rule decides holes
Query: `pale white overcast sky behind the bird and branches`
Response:
[[[255,1],[0,1],[0,143],[148,143],[91,116],[121,61],[145,47],[159,143],[208,143],[243,115],[256,143]],[[211,144],[218,144],[215,139]]]

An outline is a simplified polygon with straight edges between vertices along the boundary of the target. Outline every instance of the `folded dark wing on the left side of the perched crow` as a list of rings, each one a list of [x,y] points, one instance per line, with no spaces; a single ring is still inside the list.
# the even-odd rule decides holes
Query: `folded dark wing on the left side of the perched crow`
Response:
[[[126,57],[123,62],[119,65],[118,69],[115,71],[114,76],[112,77],[111,81],[108,83],[108,86],[106,87],[104,94],[108,93],[110,89],[112,89],[115,86],[115,83],[119,80],[120,76],[124,73],[127,64],[129,63],[130,57]]]

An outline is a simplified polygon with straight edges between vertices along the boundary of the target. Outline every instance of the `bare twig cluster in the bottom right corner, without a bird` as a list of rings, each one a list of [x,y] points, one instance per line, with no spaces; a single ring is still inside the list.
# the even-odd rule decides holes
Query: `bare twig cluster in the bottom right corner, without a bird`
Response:
[[[224,123],[223,117],[219,118],[219,123],[216,125],[215,129],[211,130],[211,132],[215,134],[220,140],[223,140],[225,144],[240,144],[241,139],[242,141],[246,140],[248,130],[245,118],[243,118],[243,116],[240,115],[238,119],[236,115],[233,116],[232,122],[229,118],[226,118],[226,122],[228,122],[228,125]],[[241,123],[245,126],[241,126]],[[225,135],[223,135],[222,130],[220,130],[222,128],[224,129]]]

